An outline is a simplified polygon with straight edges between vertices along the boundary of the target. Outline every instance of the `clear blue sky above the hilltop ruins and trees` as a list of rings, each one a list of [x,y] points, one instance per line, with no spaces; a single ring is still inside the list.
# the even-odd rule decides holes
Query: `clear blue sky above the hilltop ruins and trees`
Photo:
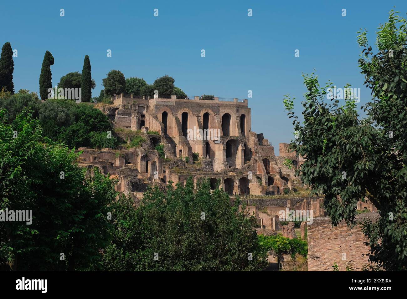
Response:
[[[293,138],[282,98],[295,96],[301,112],[302,72],[315,68],[320,82],[350,83],[362,88],[362,104],[369,99],[358,69],[356,32],[367,28],[373,41],[394,5],[405,15],[405,0],[3,1],[0,43],[9,41],[18,50],[16,91],[38,92],[46,50],[55,58],[53,85],[68,72],[81,72],[89,55],[96,81],[92,96],[98,96],[112,69],[149,84],[168,74],[191,96],[247,98],[252,90],[252,131],[263,132],[278,154],[278,143]],[[300,57],[294,57],[295,49]]]

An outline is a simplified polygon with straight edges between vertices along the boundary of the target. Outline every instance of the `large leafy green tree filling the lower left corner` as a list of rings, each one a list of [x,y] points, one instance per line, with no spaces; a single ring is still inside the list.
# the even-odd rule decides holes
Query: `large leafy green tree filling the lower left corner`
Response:
[[[30,113],[19,114],[12,124],[6,120],[2,109],[0,210],[31,210],[32,223],[0,222],[0,268],[61,271],[97,265],[109,238],[107,204],[116,197],[111,181],[97,169],[86,178],[77,155],[43,138]]]

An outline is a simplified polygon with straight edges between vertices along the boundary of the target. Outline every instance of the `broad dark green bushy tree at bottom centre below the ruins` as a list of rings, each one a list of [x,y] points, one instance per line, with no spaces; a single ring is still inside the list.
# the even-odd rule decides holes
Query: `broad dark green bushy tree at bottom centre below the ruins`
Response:
[[[239,212],[239,200],[230,206],[223,190],[211,194],[209,180],[198,183],[196,193],[193,189],[190,178],[184,187],[169,184],[165,193],[158,187],[147,190],[137,209],[129,199],[113,203],[105,269],[262,270],[267,261],[253,229],[254,216]]]

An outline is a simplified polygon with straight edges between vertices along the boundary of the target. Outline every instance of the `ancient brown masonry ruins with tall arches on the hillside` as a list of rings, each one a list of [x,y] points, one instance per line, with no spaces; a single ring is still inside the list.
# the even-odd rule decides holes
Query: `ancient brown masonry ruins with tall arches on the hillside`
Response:
[[[96,166],[109,173],[118,180],[117,191],[137,198],[148,185],[184,184],[191,175],[195,184],[209,178],[212,189],[219,180],[231,195],[280,194],[301,183],[295,177],[301,157],[290,153],[288,144],[280,144],[280,156],[275,156],[263,134],[252,132],[247,99],[120,94],[112,100],[113,105],[100,105],[99,109],[113,122],[116,132],[141,130],[147,142],[129,150],[78,151],[82,151],[79,166]],[[165,157],[155,150],[158,144],[164,145]],[[193,165],[193,153],[199,154],[199,167]],[[291,169],[283,166],[285,159],[292,161]]]

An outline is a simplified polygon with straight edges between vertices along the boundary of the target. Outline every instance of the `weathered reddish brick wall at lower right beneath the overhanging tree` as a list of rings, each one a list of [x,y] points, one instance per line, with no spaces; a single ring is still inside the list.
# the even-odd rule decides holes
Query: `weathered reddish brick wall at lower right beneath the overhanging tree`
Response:
[[[357,220],[377,219],[377,213],[357,216]],[[314,218],[307,226],[308,234],[308,270],[333,271],[334,262],[339,271],[345,271],[348,263],[355,271],[361,271],[368,264],[370,247],[363,244],[367,240],[360,226],[350,229],[344,221],[333,227],[329,217]]]

